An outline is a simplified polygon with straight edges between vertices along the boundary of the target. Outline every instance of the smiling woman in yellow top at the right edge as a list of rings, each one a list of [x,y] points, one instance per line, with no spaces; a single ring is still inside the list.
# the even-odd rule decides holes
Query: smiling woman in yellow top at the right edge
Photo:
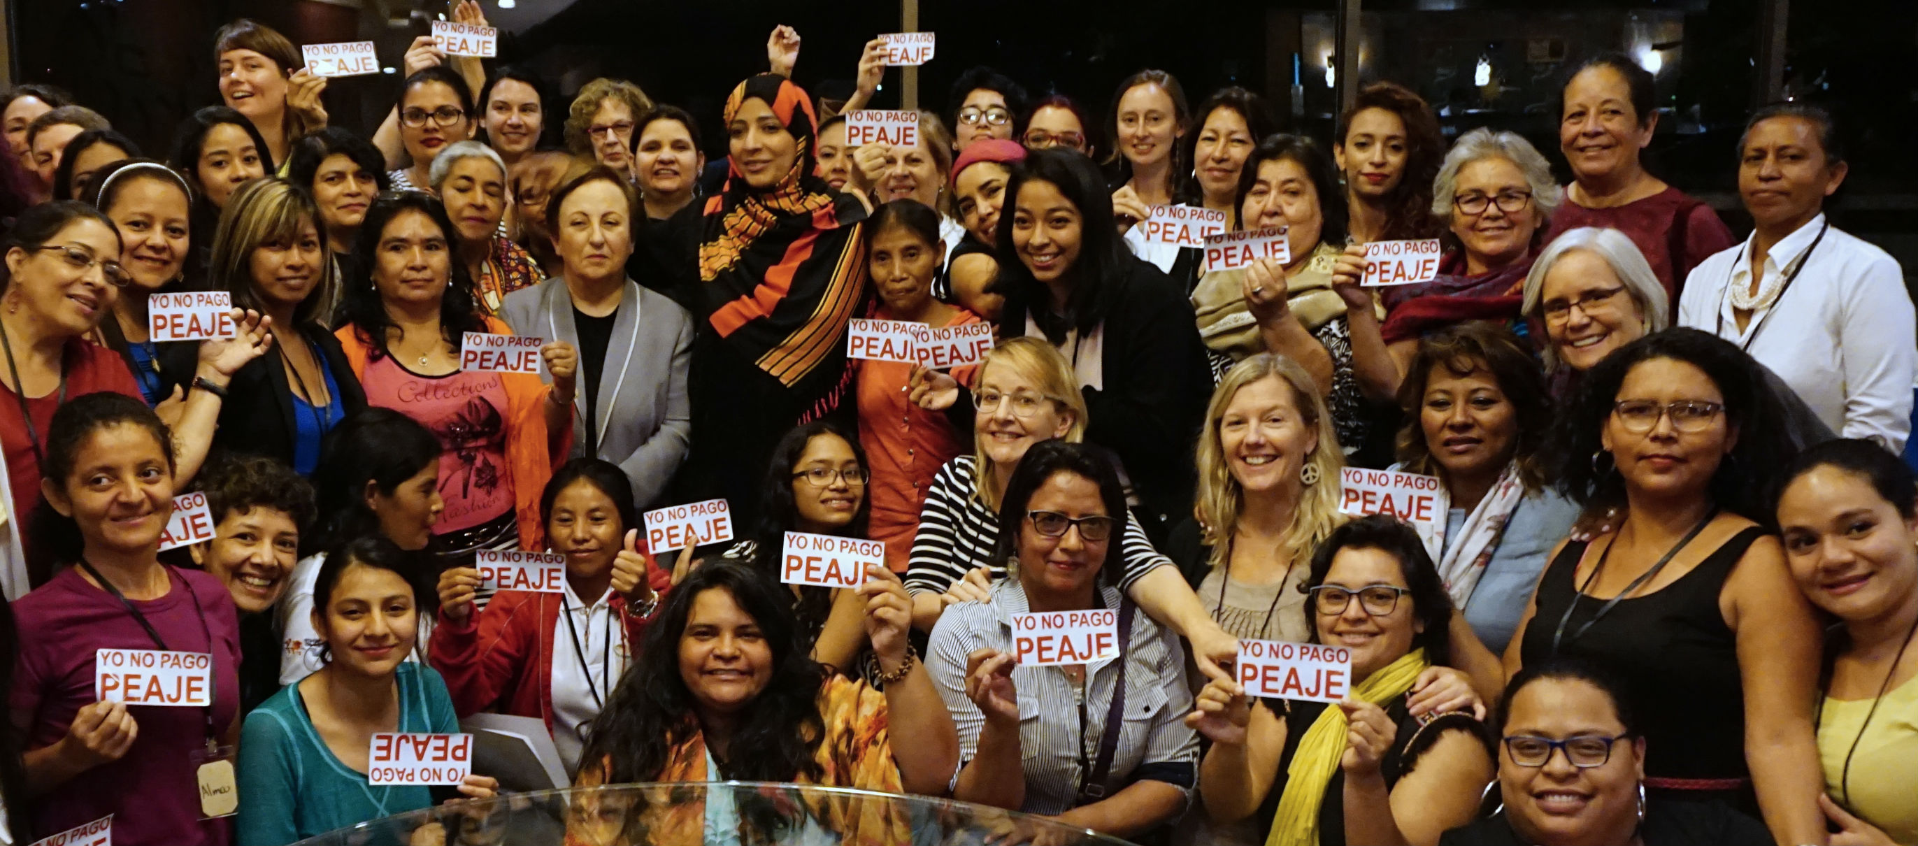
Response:
[[[1872,441],[1811,447],[1786,468],[1778,529],[1826,631],[1818,806],[1832,842],[1918,840],[1918,503],[1912,470]]]

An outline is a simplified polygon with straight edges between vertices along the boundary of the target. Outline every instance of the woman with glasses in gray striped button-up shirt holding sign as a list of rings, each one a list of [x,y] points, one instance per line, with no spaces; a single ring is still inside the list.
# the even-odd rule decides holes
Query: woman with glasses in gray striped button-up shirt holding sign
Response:
[[[995,551],[1011,577],[984,602],[947,608],[928,646],[959,727],[953,798],[1124,838],[1185,810],[1199,758],[1199,739],[1180,725],[1191,710],[1185,650],[1116,585],[1124,514],[1118,476],[1097,451],[1045,441],[1018,462]],[[1103,623],[1055,625],[1074,616]]]

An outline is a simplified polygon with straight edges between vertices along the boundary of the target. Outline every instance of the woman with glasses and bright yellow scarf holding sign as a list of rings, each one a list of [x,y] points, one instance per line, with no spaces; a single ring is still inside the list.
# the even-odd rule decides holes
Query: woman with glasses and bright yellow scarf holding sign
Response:
[[[1415,679],[1450,660],[1452,602],[1431,556],[1396,518],[1360,518],[1312,556],[1306,595],[1312,643],[1348,664],[1268,670],[1241,658],[1243,685],[1214,679],[1199,691],[1185,723],[1212,740],[1199,767],[1206,815],[1216,825],[1254,819],[1268,831],[1254,842],[1438,842],[1473,819],[1492,756],[1471,714],[1412,716]],[[1281,698],[1293,689],[1272,679],[1291,671],[1306,681],[1297,698]],[[1348,673],[1343,696],[1310,693],[1331,673]]]

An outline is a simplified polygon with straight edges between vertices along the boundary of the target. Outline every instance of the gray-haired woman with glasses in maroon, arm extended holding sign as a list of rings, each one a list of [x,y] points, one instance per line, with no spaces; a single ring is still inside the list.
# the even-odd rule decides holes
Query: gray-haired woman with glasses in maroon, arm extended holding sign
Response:
[[[1352,322],[1352,359],[1360,386],[1392,401],[1419,338],[1467,320],[1492,320],[1527,336],[1521,315],[1525,276],[1538,234],[1563,201],[1552,165],[1515,132],[1475,129],[1460,136],[1433,180],[1433,217],[1450,230],[1438,278],[1385,288],[1385,324]],[[1333,290],[1350,309],[1369,309],[1364,246],[1346,247],[1333,270]]]

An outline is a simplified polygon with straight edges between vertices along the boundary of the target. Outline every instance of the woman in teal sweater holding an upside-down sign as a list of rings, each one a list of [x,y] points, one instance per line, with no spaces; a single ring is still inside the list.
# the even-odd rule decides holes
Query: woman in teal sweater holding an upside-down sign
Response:
[[[424,783],[368,775],[382,764],[378,733],[460,731],[439,673],[407,660],[420,614],[409,572],[409,554],[384,537],[326,556],[313,585],[324,666],[247,714],[240,733],[242,844],[290,844],[433,804]],[[466,775],[458,792],[485,798],[497,787]]]

